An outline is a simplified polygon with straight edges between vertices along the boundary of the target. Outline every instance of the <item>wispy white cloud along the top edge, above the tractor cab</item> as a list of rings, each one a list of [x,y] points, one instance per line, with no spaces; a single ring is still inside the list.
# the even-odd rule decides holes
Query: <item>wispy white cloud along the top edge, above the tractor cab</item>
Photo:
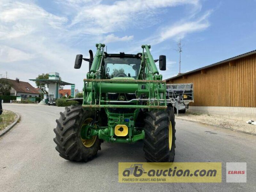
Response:
[[[80,26],[87,34],[111,33],[124,30],[131,26],[139,26],[140,21],[147,18],[147,25],[161,8],[192,4],[199,7],[198,0],[125,0],[116,1],[111,5],[97,4],[85,6],[72,20],[71,26]]]

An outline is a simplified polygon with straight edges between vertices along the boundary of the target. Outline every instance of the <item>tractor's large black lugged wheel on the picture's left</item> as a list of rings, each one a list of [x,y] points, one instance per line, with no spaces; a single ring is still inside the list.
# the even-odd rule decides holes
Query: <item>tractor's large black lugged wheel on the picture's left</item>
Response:
[[[56,137],[53,141],[57,144],[56,150],[60,156],[70,161],[88,161],[97,155],[101,141],[98,136],[90,140],[81,138],[81,127],[94,118],[92,111],[83,110],[81,105],[66,107],[56,119],[57,127],[53,130]]]

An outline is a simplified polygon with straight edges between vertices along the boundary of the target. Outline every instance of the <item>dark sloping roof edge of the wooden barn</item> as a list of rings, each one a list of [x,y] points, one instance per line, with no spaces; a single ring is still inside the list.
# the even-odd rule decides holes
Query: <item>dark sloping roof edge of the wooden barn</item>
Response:
[[[211,64],[211,65],[207,65],[207,66],[205,66],[205,67],[201,67],[201,68],[198,68],[198,69],[189,71],[189,72],[187,72],[187,73],[182,73],[182,74],[180,74],[180,75],[177,75],[177,76],[168,78],[168,79],[166,79],[166,81],[168,81],[168,80],[170,80],[170,79],[175,79],[175,78],[177,78],[177,77],[184,76],[184,75],[187,75],[187,74],[191,74],[191,73],[200,71],[200,70],[202,70],[202,69],[211,68],[211,67],[216,66],[216,65],[221,65],[221,64],[223,64],[223,63],[227,63],[227,62],[229,62],[229,61],[233,61],[233,60],[236,60],[236,59],[240,59],[240,58],[243,58],[243,57],[246,57],[246,56],[255,54],[255,53],[256,53],[256,50],[253,50],[253,51],[250,51],[250,52],[247,52],[247,53],[243,53],[243,54],[241,54],[241,55],[237,55],[237,56],[235,56],[235,57],[231,57],[231,58],[229,58],[229,59],[226,59],[226,60],[223,60],[223,61],[219,61],[219,62],[217,62],[217,63],[213,63],[213,64]]]

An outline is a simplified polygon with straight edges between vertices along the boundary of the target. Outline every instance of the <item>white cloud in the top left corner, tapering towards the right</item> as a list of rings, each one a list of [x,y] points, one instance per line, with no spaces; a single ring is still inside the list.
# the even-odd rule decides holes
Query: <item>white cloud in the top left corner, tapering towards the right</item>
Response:
[[[0,39],[60,29],[65,22],[65,17],[46,12],[35,4],[8,1],[0,6]]]

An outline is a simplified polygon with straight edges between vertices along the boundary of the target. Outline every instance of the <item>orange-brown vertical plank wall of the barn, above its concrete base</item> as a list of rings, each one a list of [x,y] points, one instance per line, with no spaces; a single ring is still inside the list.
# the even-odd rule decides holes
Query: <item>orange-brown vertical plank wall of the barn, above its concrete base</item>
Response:
[[[256,54],[167,81],[193,83],[191,106],[256,107]]]

